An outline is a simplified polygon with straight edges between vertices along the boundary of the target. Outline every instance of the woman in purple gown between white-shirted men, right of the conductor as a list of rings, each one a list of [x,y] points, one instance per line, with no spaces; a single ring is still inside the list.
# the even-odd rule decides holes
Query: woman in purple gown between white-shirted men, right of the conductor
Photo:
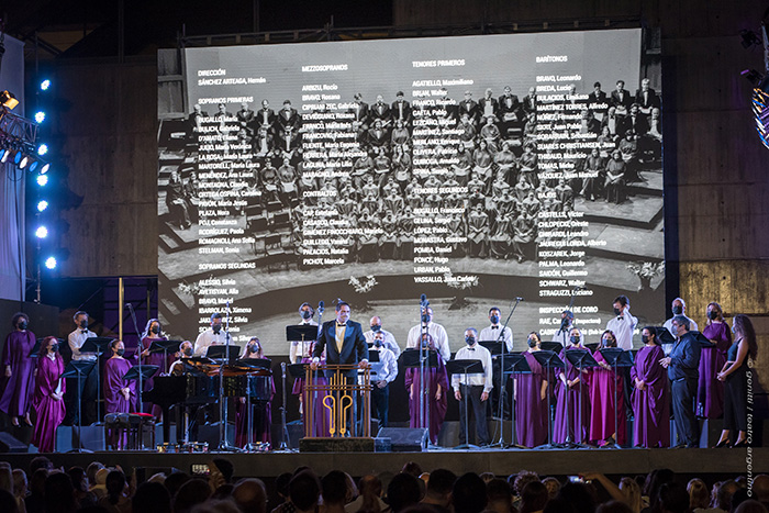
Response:
[[[435,350],[435,341],[433,337],[424,333],[422,335],[422,345],[427,349]],[[441,358],[441,353],[435,352],[438,366],[428,368],[425,371],[424,379],[427,383],[427,403],[430,406],[430,440],[433,444],[438,443],[438,434],[441,426],[446,417],[446,393],[448,392],[448,375],[446,366]],[[420,427],[420,369],[419,367],[409,368],[405,371],[405,389],[409,392],[409,413],[411,420],[410,427]]]

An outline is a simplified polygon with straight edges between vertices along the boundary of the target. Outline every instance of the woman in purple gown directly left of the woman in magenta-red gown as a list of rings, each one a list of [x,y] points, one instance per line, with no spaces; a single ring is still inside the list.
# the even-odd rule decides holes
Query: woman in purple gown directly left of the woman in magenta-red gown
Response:
[[[566,352],[589,352],[582,345],[582,335],[576,327],[569,333],[571,345],[560,352],[560,359],[566,363],[566,372],[556,369],[556,425],[553,431],[553,442],[562,444],[567,438],[566,431],[566,404],[569,404],[569,434],[571,442],[582,444],[588,439],[590,430],[590,381],[588,369],[580,370],[571,365],[566,357]],[[567,395],[568,389],[568,395]]]

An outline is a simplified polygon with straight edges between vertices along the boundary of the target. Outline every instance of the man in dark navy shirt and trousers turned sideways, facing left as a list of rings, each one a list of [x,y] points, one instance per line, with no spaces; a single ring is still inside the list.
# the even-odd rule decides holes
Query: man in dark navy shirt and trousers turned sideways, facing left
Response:
[[[672,319],[673,335],[678,339],[670,356],[659,360],[660,365],[668,369],[679,447],[700,446],[700,424],[694,415],[694,395],[700,378],[702,347],[689,331],[689,319],[683,315]]]

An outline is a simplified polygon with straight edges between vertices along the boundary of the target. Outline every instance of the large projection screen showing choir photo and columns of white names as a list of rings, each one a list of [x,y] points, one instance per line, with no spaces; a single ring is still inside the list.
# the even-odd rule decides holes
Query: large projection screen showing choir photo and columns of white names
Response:
[[[161,54],[165,328],[194,339],[229,308],[235,343],[259,336],[267,355],[286,354],[300,303],[323,300],[330,320],[341,298],[364,326],[381,316],[403,347],[422,293],[453,350],[492,305],[506,319],[516,297],[517,348],[531,331],[549,339],[572,298],[588,343],[617,294],[639,327],[660,325],[650,40],[616,30],[207,47],[176,66]]]

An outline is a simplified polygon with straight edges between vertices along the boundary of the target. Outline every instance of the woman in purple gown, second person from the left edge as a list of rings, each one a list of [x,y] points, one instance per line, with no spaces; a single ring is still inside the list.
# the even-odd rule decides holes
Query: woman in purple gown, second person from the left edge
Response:
[[[62,424],[66,408],[64,392],[67,391],[64,372],[64,359],[58,353],[58,339],[47,336],[37,353],[37,375],[35,376],[35,394],[32,408],[35,410],[35,427],[32,431],[32,444],[41,453],[53,453],[56,428]]]

